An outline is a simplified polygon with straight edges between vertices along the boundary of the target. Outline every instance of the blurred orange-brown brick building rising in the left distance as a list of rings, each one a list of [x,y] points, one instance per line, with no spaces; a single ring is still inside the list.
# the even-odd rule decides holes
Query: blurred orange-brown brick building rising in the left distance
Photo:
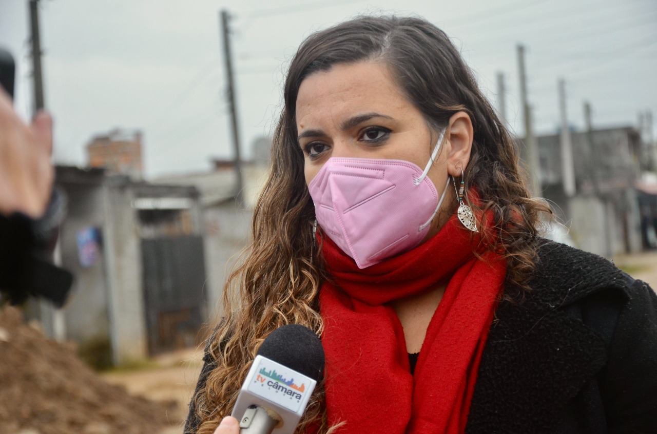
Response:
[[[105,168],[108,174],[143,178],[140,131],[114,129],[95,136],[87,144],[89,167]]]

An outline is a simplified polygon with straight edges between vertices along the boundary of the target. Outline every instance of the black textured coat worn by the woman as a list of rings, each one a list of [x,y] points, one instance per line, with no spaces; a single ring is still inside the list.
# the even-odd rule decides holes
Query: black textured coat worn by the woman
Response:
[[[657,433],[652,289],[549,242],[530,286],[522,303],[497,307],[466,433]],[[197,390],[212,369],[204,360]],[[198,424],[190,407],[185,433]]]

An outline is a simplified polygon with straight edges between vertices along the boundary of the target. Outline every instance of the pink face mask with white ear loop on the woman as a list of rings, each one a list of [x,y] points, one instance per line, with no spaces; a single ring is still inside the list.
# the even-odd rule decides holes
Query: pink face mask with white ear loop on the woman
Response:
[[[308,185],[317,222],[359,268],[410,250],[426,237],[445,198],[422,169],[401,160],[330,158]],[[449,183],[449,177],[447,178]]]

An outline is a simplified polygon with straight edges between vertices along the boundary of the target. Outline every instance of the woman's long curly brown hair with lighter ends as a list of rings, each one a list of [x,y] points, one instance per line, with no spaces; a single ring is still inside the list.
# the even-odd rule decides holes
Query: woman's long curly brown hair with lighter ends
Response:
[[[327,278],[311,222],[313,202],[298,146],[296,98],[304,79],[336,64],[380,62],[436,130],[465,111],[474,140],[464,178],[478,192],[480,211],[492,214],[489,248],[507,260],[507,288],[522,296],[535,269],[541,214],[550,208],[530,198],[518,149],[472,71],[445,33],[420,18],[364,16],[314,33],[292,59],[284,107],[271,149],[271,172],[254,210],[252,243],[225,286],[225,315],[208,345],[214,369],[194,396],[199,434],[211,434],[230,414],[258,347],[275,328],[305,325],[321,336],[319,288]],[[298,427],[328,433],[323,385]]]

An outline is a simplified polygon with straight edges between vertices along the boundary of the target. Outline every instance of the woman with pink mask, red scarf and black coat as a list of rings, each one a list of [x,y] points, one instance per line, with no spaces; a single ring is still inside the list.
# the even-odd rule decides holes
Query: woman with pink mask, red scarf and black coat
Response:
[[[186,431],[215,431],[286,323],[327,358],[298,432],[650,431],[656,298],[541,240],[549,215],[442,31],[365,17],[311,35]]]

